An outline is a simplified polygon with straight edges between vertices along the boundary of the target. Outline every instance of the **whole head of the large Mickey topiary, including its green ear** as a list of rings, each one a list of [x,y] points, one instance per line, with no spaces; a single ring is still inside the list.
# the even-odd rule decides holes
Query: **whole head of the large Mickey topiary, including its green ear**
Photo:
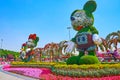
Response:
[[[90,27],[93,25],[94,17],[92,12],[96,10],[96,2],[89,0],[81,10],[75,10],[70,19],[73,29],[79,31],[82,28]]]

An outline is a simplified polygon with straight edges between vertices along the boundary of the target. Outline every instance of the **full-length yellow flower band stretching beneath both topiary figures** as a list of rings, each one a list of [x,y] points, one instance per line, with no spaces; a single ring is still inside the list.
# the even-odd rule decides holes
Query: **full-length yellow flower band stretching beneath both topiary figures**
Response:
[[[12,62],[11,66],[20,66],[20,67],[45,67],[45,68],[57,68],[57,69],[103,69],[103,68],[118,68],[120,69],[120,63],[112,64],[92,64],[92,65],[66,65],[65,63],[53,63],[53,62]]]

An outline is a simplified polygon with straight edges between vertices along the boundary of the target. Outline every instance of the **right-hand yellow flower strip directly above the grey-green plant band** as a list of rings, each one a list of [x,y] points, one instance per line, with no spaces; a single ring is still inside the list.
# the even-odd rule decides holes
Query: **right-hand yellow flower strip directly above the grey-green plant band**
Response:
[[[91,65],[54,65],[54,68],[57,69],[82,69],[82,70],[88,70],[88,69],[104,69],[104,68],[117,68],[120,69],[120,63],[116,64],[91,64]]]

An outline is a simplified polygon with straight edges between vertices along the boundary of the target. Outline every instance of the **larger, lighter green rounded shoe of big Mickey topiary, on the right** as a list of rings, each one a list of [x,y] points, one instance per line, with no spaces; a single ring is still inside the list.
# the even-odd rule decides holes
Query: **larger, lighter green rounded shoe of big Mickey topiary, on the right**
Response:
[[[100,62],[96,56],[86,55],[86,56],[82,56],[79,59],[79,64],[97,64],[97,63]]]

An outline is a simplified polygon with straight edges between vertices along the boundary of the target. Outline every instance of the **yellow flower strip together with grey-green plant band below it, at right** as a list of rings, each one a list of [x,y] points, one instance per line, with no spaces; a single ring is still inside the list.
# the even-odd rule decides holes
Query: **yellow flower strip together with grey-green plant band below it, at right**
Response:
[[[94,65],[55,65],[52,70],[56,75],[71,77],[104,77],[120,75],[120,64]]]

